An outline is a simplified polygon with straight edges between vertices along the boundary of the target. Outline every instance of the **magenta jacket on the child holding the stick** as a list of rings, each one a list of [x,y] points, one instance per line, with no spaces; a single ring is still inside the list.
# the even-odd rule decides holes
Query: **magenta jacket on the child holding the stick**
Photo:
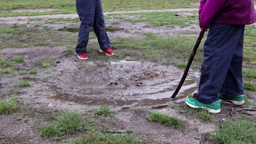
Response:
[[[250,25],[256,22],[253,0],[201,0],[199,21],[201,28],[209,28],[212,22]]]

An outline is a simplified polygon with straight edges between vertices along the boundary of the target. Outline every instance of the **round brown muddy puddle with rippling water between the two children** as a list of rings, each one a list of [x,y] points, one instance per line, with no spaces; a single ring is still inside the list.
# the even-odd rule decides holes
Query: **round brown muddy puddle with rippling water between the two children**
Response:
[[[30,78],[34,87],[44,89],[43,95],[40,89],[28,93],[84,105],[152,106],[184,101],[196,91],[200,75],[190,71],[174,101],[170,97],[183,70],[173,66],[137,61],[62,63],[66,66],[57,65],[47,80]]]

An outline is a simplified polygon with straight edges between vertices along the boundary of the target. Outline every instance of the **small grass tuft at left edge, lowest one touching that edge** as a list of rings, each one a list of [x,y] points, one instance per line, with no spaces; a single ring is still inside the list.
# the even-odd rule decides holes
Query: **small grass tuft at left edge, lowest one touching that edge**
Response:
[[[16,97],[0,100],[0,113],[10,113],[18,109]]]

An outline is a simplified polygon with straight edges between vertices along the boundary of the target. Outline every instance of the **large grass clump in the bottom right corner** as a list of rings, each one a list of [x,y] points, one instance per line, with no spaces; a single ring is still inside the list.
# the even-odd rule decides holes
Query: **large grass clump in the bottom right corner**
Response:
[[[223,122],[222,125],[210,135],[215,143],[255,143],[256,129],[254,123],[247,120]]]

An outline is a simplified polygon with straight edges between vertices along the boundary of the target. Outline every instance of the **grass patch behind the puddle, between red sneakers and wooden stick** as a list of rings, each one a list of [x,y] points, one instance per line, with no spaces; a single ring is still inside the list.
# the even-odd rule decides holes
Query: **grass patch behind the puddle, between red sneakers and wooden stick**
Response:
[[[112,45],[117,49],[136,51],[133,52],[133,55],[127,52],[124,52],[123,55],[134,57],[134,53],[136,53],[138,55],[136,57],[142,57],[148,61],[159,61],[161,58],[171,57],[187,61],[196,41],[196,38],[185,35],[173,37],[156,35],[154,33],[146,33],[145,35],[146,38],[144,39],[118,38],[112,41]],[[142,56],[139,53],[142,53]],[[203,46],[201,44],[197,50],[195,62],[202,62],[202,60]]]

